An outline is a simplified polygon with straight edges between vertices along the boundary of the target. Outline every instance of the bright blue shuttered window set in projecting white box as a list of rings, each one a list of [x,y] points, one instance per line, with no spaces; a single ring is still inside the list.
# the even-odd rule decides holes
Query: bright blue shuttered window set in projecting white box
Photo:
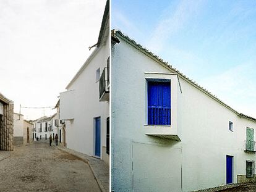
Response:
[[[171,83],[148,81],[148,125],[171,125]]]

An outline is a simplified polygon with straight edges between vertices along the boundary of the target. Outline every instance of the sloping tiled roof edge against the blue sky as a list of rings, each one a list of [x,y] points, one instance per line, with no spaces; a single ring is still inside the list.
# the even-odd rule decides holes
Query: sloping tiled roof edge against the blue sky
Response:
[[[158,62],[158,64],[163,65],[166,69],[170,70],[171,72],[177,73],[179,75],[179,77],[181,77],[182,79],[184,79],[185,81],[187,81],[191,85],[195,86],[195,88],[197,88],[198,90],[203,91],[203,93],[207,94],[212,99],[215,99],[216,101],[220,102],[220,104],[222,104],[223,106],[227,107],[229,110],[231,110],[234,113],[236,113],[239,117],[243,117],[245,119],[253,120],[254,122],[256,122],[255,118],[237,112],[235,109],[233,109],[232,107],[228,106],[228,104],[226,104],[223,101],[221,101],[221,99],[217,98],[213,93],[211,93],[210,91],[206,90],[202,86],[198,85],[195,81],[191,80],[189,77],[187,77],[186,75],[181,73],[179,70],[177,70],[177,69],[173,68],[171,65],[169,65],[168,62],[163,61],[163,59],[161,59],[159,56],[156,56],[156,54],[154,54],[153,52],[151,52],[148,49],[144,48],[141,44],[136,43],[136,41],[130,39],[129,36],[124,35],[121,31],[113,30],[113,33],[111,33],[111,35],[114,38],[117,38],[117,39],[121,38],[122,40],[126,41],[126,43],[130,44],[134,48],[138,49],[140,52],[143,52],[143,54],[147,55],[148,57],[150,57],[154,61]]]

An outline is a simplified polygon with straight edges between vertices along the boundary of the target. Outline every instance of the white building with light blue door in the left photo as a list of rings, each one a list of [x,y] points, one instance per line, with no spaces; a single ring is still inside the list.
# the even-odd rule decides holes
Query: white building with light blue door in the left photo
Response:
[[[109,1],[98,43],[60,94],[67,148],[100,157],[109,164]],[[108,127],[108,128],[107,128]]]

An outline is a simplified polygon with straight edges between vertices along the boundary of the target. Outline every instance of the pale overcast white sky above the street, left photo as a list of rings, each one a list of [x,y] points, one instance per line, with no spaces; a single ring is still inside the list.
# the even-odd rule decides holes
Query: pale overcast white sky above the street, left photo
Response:
[[[22,107],[54,107],[97,43],[104,0],[0,1],[0,93]],[[56,112],[21,109],[25,119]]]

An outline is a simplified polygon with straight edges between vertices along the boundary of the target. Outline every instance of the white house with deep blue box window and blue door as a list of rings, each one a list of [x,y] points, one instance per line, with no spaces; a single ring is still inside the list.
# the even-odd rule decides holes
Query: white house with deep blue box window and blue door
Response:
[[[196,191],[256,181],[256,119],[121,31],[113,31],[111,46],[113,191]]]

